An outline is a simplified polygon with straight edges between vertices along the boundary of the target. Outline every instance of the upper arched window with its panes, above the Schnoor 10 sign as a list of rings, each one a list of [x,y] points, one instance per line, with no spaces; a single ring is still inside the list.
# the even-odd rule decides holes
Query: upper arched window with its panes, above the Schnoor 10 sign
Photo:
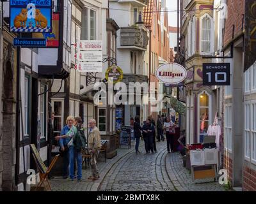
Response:
[[[211,54],[212,52],[212,18],[206,13],[201,18],[201,54]]]

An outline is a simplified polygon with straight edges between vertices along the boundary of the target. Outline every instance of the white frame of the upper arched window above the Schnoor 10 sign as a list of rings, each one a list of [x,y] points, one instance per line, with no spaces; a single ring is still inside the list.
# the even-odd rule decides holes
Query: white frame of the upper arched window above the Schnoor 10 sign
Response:
[[[202,52],[202,20],[204,20],[205,17],[208,17],[211,20],[210,52]],[[214,52],[214,21],[211,15],[209,15],[208,13],[205,13],[204,15],[202,15],[202,17],[200,17],[200,43],[199,44],[200,44],[201,55],[211,55]]]

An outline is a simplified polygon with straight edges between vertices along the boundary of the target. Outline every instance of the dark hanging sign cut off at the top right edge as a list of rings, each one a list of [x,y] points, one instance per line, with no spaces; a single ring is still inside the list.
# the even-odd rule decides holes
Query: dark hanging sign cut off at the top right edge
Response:
[[[245,3],[244,31],[244,71],[256,61],[256,1],[247,0]]]

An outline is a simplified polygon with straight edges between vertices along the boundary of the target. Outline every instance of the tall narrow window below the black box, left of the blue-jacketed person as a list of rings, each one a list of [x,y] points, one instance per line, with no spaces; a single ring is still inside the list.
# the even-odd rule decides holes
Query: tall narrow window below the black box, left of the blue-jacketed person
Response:
[[[40,94],[45,92],[45,85],[41,85],[40,86]],[[42,94],[39,96],[39,111],[40,111],[40,127],[38,127],[40,129],[40,139],[45,138],[46,137],[46,94]]]

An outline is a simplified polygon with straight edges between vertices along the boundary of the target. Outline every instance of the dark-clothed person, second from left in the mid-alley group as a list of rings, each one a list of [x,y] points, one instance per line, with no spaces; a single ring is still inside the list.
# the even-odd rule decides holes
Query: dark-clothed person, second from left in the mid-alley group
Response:
[[[154,153],[154,126],[149,118],[146,120],[146,123],[144,124],[142,129],[146,152],[150,153],[151,150],[151,152]]]

